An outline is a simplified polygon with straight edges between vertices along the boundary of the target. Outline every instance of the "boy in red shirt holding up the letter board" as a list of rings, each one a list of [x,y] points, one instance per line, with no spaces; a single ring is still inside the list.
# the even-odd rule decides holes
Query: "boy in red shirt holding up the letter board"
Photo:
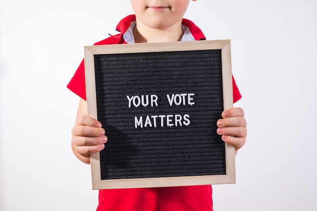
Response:
[[[196,0],[192,0],[196,1]],[[135,15],[118,25],[120,34],[110,36],[95,45],[133,44],[206,39],[191,21],[183,19],[190,0],[131,0]],[[67,86],[81,97],[75,125],[72,129],[72,150],[75,156],[90,163],[90,154],[105,147],[107,137],[102,125],[87,116],[84,62]],[[233,99],[241,95],[233,80]],[[232,108],[222,113],[217,133],[222,140],[239,150],[246,141],[244,111]],[[210,185],[167,188],[99,190],[97,210],[213,210]]]

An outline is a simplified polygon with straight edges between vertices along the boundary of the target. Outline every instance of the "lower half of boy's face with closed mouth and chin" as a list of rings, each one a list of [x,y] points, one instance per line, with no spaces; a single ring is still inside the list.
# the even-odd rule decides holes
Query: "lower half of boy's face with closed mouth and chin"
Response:
[[[154,29],[165,29],[181,22],[189,1],[131,0],[131,5],[137,19],[142,24]]]

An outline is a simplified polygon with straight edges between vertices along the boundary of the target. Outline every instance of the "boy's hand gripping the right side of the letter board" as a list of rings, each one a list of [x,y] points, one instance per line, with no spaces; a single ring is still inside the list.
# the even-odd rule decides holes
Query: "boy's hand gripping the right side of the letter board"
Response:
[[[234,146],[235,152],[246,142],[247,122],[242,108],[231,108],[222,112],[223,119],[217,121],[217,133],[221,139]]]

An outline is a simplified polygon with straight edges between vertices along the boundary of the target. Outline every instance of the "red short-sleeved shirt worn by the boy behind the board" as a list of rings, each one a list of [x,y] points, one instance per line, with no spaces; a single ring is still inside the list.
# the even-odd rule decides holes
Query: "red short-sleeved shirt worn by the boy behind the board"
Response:
[[[119,34],[99,41],[95,45],[127,44],[123,34],[130,23],[135,21],[135,15],[130,15],[121,20],[116,30]],[[205,40],[205,35],[193,22],[183,19],[195,40]],[[233,82],[233,102],[241,98],[240,92]],[[86,100],[84,60],[77,68],[74,76],[69,81],[67,88],[79,97]],[[163,210],[200,210],[212,211],[211,185],[164,187],[164,188],[133,188],[99,190],[99,205],[97,211],[124,210],[124,211],[163,211]]]

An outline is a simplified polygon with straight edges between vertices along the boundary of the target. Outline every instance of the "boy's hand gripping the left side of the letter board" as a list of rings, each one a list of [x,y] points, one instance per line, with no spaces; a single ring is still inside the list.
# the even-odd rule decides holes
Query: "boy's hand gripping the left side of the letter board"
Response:
[[[101,123],[87,115],[76,118],[71,131],[71,148],[76,157],[85,163],[90,163],[90,154],[101,151],[107,142],[105,130]]]

